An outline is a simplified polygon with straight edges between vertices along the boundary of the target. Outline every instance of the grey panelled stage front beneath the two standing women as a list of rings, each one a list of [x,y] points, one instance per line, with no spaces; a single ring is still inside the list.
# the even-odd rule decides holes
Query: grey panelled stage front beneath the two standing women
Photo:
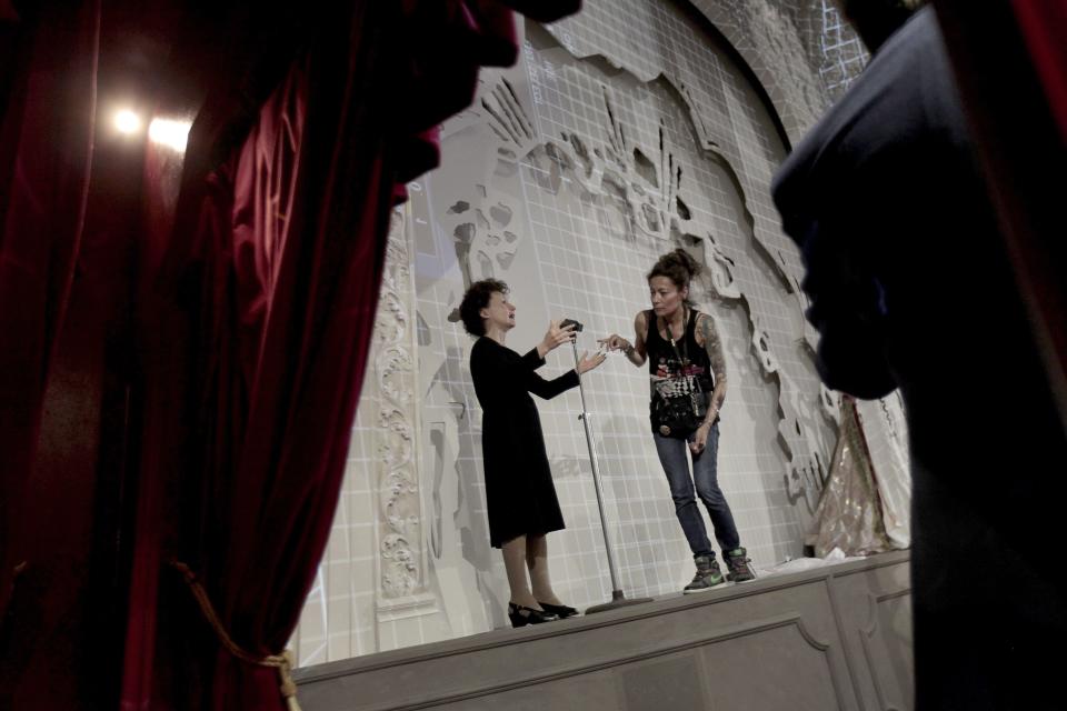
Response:
[[[303,711],[905,711],[908,553],[295,675]]]

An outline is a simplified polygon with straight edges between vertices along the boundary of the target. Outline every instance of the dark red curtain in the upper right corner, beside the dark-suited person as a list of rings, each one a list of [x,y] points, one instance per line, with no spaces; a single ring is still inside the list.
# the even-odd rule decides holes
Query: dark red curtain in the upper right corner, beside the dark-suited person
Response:
[[[1067,0],[935,7],[1067,432]]]

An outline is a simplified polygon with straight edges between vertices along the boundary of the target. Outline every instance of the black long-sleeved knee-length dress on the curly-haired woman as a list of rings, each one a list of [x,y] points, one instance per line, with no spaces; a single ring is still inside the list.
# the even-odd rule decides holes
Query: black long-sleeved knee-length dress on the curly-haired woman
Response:
[[[548,467],[541,419],[529,393],[549,400],[578,384],[570,372],[545,380],[537,350],[519,356],[491,338],[470,351],[470,374],[481,404],[489,542],[500,548],[519,535],[544,535],[564,527]]]

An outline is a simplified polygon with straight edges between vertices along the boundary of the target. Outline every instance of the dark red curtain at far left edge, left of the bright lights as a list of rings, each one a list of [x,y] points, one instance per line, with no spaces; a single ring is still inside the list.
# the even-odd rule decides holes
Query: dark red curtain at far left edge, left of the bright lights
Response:
[[[86,227],[99,18],[99,2],[0,12],[0,621],[32,563],[19,533]]]

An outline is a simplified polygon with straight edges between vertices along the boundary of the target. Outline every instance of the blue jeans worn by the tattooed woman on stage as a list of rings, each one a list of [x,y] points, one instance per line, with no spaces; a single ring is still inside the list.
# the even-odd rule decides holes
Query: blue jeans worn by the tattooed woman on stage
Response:
[[[689,462],[686,459],[686,452],[689,449],[686,440],[662,437],[658,433],[652,433],[652,438],[656,440],[659,461],[664,465],[664,471],[667,472],[670,498],[675,500],[675,514],[686,534],[686,540],[689,541],[692,554],[712,554],[711,541],[708,540],[704,518],[700,515],[700,509],[697,508],[697,495],[708,509],[711,525],[715,527],[715,540],[719,542],[722,552],[738,548],[741,540],[737,534],[734,514],[730,513],[730,505],[726,502],[722,490],[719,489],[716,462],[719,454],[719,423],[711,425],[704,451],[692,455],[692,477],[689,475]],[[694,491],[694,484],[696,484],[696,491]]]

